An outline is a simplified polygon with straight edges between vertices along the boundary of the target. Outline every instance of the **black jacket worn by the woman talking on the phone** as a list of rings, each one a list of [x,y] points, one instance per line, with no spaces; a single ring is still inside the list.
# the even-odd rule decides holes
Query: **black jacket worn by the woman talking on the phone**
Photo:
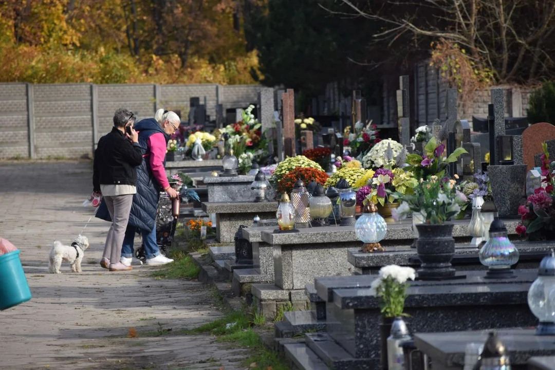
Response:
[[[132,144],[122,131],[112,128],[94,151],[93,190],[100,191],[100,185],[137,185],[135,167],[142,162],[139,143]]]

